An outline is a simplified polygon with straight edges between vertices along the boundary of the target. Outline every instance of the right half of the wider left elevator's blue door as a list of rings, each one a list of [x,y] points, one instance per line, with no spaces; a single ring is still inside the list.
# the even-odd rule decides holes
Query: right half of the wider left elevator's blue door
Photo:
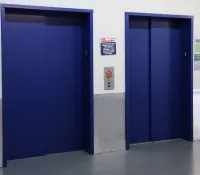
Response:
[[[45,108],[49,153],[82,145],[82,27],[73,18],[46,18]]]

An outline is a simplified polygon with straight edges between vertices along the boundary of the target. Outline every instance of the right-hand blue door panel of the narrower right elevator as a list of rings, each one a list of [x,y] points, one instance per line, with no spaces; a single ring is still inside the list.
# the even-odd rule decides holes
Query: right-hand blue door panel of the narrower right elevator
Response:
[[[177,20],[152,18],[151,137],[180,138],[181,34]]]

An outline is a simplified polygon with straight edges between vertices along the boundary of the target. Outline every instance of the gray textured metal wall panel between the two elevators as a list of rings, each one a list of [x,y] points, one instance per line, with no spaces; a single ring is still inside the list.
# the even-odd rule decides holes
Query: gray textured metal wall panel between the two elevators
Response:
[[[125,150],[124,93],[94,95],[94,153]]]

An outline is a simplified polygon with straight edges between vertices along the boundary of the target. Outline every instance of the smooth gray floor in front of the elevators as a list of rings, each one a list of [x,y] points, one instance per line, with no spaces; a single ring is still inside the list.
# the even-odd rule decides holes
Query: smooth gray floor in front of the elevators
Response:
[[[0,175],[200,175],[200,142],[175,140],[95,156],[80,151],[14,160]]]

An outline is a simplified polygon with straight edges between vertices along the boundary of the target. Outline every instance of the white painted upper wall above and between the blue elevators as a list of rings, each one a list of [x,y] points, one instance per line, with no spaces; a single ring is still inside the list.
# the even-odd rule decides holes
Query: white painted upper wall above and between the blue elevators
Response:
[[[104,66],[115,66],[116,88],[112,92],[117,93],[125,91],[124,12],[129,11],[129,12],[193,15],[194,36],[195,38],[200,38],[200,11],[198,6],[200,5],[199,0],[123,0],[123,1],[122,0],[0,0],[0,3],[93,9],[95,94],[110,93],[103,90]],[[100,56],[99,54],[100,37],[117,38],[116,56],[111,56],[109,58]],[[200,89],[200,72],[194,72],[194,88]],[[1,92],[1,85],[0,85],[0,92]],[[2,94],[0,93],[0,98],[1,97]],[[1,135],[2,133],[0,133],[0,136]],[[0,138],[0,145],[1,143],[2,140]],[[0,157],[2,157],[1,150],[0,150]],[[1,165],[2,161],[0,161],[0,166]]]

